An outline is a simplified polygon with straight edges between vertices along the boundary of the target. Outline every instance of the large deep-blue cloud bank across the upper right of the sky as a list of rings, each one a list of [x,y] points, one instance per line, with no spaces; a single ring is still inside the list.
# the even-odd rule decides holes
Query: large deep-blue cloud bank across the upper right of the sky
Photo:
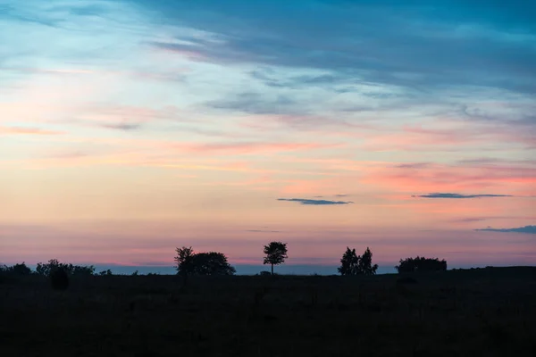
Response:
[[[203,29],[219,39],[155,46],[195,51],[215,62],[332,71],[297,82],[344,78],[405,87],[478,85],[536,92],[536,5],[521,0],[508,6],[477,6],[475,1],[127,1],[158,12],[157,21]],[[258,71],[253,75],[259,78]]]

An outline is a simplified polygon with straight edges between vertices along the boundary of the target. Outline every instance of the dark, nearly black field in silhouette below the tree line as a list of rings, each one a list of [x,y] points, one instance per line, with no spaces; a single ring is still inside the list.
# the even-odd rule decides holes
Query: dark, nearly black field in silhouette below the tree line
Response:
[[[536,356],[536,268],[411,277],[3,281],[0,356]]]

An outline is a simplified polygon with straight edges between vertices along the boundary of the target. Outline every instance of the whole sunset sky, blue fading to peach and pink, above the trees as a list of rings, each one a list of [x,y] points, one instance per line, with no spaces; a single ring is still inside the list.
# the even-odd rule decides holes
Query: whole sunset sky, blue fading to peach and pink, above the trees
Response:
[[[535,16],[0,0],[0,262],[535,265]]]

